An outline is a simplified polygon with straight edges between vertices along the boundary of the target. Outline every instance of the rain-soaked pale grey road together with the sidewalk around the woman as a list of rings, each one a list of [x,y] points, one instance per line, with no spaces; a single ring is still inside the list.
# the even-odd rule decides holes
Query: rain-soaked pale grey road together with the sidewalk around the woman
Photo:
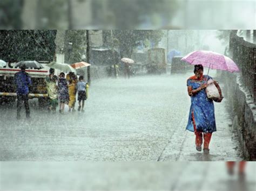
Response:
[[[93,82],[85,113],[49,114],[31,102],[31,119],[0,111],[1,161],[238,161],[225,102],[215,104],[210,154],[197,152],[185,131],[187,75],[137,76]],[[23,116],[24,117],[24,116]]]

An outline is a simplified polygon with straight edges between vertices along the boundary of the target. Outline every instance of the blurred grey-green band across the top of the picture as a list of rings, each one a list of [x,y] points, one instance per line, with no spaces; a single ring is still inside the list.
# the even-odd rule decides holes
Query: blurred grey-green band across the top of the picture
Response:
[[[254,29],[254,0],[2,0],[1,29]]]

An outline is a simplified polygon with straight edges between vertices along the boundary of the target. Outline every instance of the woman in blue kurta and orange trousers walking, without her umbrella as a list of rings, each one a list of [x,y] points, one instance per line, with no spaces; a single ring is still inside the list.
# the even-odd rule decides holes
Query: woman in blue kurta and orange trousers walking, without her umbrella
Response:
[[[208,153],[210,151],[209,144],[212,133],[216,131],[216,124],[213,100],[207,98],[205,91],[208,86],[207,81],[212,77],[203,73],[204,67],[195,65],[195,75],[187,80],[187,91],[188,95],[191,96],[191,107],[186,130],[192,131],[196,135],[197,151],[202,150],[204,138],[204,152]],[[214,84],[218,88],[220,96],[223,97],[218,83],[214,81]],[[218,101],[221,100],[222,98],[219,98]]]

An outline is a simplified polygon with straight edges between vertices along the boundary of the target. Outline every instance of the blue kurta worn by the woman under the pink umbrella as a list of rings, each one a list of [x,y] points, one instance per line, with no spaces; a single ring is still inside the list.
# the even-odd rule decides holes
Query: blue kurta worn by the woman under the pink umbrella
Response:
[[[202,81],[188,79],[187,86],[197,89],[210,79],[212,79],[212,77],[208,75],[204,75]],[[205,133],[216,131],[214,104],[212,100],[207,98],[205,89],[199,91],[196,95],[191,96],[190,114],[188,116],[186,130],[194,132],[192,111],[194,112],[194,121],[196,122],[197,131]]]

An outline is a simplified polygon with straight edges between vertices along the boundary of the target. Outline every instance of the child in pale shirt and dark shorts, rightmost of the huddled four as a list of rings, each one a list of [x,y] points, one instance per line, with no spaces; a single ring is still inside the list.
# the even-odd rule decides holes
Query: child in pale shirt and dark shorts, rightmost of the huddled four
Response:
[[[84,76],[79,76],[78,79],[78,83],[77,83],[77,90],[78,90],[78,111],[82,111],[84,112],[84,101],[86,100],[86,83],[83,81],[84,80]],[[82,102],[82,105],[81,105]],[[81,110],[82,107],[82,110]]]

